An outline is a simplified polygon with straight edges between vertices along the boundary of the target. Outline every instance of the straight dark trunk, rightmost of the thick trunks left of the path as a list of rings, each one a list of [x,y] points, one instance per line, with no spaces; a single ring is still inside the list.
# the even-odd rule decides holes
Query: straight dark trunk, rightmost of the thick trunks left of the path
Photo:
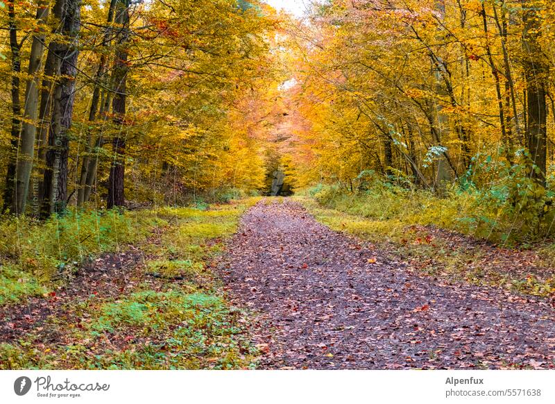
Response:
[[[122,127],[126,116],[126,82],[128,74],[127,54],[129,40],[129,0],[118,0],[116,22],[122,28],[118,37],[116,60],[114,63],[113,83],[114,99],[112,101],[112,112],[114,112],[114,124]],[[120,131],[121,133],[121,131]],[[125,137],[116,135],[112,142],[114,160],[110,167],[108,178],[108,208],[123,206],[125,198],[123,194],[123,183],[125,176]]]

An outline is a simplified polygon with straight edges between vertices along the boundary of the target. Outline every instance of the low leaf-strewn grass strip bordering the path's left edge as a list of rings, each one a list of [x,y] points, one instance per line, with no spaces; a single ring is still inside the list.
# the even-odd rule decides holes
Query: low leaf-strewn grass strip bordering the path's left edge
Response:
[[[158,227],[156,237],[146,239],[141,233],[142,240],[135,242],[148,260],[130,271],[133,288],[117,298],[91,294],[65,301],[62,314],[46,317],[40,328],[10,344],[0,344],[0,369],[255,367],[257,349],[246,330],[248,314],[225,300],[210,262],[223,251],[241,214],[258,200],[208,210],[140,212],[140,220]],[[185,279],[176,281],[176,276]],[[33,293],[43,292],[36,281],[33,285]]]

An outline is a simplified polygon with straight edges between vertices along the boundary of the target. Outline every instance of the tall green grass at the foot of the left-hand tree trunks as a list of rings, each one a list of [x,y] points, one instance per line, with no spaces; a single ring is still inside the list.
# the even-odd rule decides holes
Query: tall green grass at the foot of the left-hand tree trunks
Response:
[[[125,249],[126,244],[144,239],[162,224],[153,214],[117,210],[69,210],[44,223],[4,217],[0,221],[1,268],[12,267],[25,273],[24,279],[30,283],[50,287],[71,276],[87,258]],[[0,292],[0,301],[2,296]]]

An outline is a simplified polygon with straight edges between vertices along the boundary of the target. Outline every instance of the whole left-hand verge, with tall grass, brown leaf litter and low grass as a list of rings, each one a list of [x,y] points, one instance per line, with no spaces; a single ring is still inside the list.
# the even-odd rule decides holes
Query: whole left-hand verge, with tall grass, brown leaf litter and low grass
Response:
[[[246,314],[225,300],[214,269],[257,200],[26,224],[20,252],[3,247],[12,255],[1,267],[0,369],[253,367]],[[44,258],[29,263],[41,255],[28,240],[48,231]],[[66,232],[92,235],[71,244]]]

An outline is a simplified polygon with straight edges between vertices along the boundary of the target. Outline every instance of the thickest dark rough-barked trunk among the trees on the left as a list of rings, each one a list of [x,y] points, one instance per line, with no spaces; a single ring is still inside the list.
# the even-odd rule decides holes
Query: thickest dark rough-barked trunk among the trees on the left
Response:
[[[49,135],[49,151],[46,153],[44,172],[44,199],[42,216],[62,212],[67,204],[67,159],[69,155],[68,131],[74,108],[74,88],[77,74],[78,35],[80,30],[80,0],[58,0],[62,3],[61,26],[67,42],[52,44],[59,64],[58,83],[54,90],[52,126]],[[56,7],[55,6],[55,7]]]

